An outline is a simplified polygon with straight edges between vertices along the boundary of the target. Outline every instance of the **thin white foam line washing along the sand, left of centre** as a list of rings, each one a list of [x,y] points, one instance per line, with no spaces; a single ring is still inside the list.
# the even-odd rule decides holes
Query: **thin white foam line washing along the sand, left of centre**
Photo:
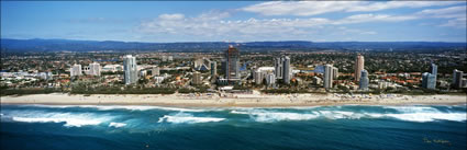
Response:
[[[36,106],[36,107],[53,107],[53,108],[84,107],[84,108],[97,108],[99,111],[110,111],[110,109],[130,109],[130,111],[165,109],[165,111],[176,111],[176,112],[209,112],[209,111],[220,111],[220,109],[163,107],[163,106],[142,106],[142,105],[32,105],[32,106]]]

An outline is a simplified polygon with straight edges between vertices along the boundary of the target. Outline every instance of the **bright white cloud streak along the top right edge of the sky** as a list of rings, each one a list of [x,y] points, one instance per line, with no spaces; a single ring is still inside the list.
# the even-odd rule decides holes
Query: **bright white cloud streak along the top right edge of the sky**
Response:
[[[273,1],[248,5],[240,10],[263,15],[309,16],[330,12],[371,12],[399,8],[452,5],[462,1]]]

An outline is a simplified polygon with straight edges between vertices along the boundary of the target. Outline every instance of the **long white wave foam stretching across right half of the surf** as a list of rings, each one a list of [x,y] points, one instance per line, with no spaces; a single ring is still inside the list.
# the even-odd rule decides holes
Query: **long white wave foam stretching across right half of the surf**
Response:
[[[308,120],[315,118],[327,119],[360,119],[360,118],[394,118],[407,122],[435,122],[452,120],[465,122],[467,119],[466,112],[441,112],[430,106],[383,106],[383,108],[396,109],[398,113],[367,113],[360,111],[304,111],[283,112],[283,111],[266,111],[266,109],[246,109],[231,111],[231,114],[249,115],[256,122],[280,122],[280,120]]]

